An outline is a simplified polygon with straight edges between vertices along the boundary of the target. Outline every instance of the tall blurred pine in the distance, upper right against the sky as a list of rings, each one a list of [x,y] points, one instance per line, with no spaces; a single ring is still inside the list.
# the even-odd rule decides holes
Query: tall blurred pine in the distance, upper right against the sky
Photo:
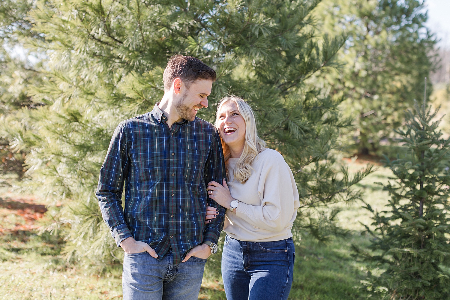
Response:
[[[331,94],[344,96],[345,115],[356,119],[347,141],[358,153],[386,153],[382,145],[396,145],[394,130],[421,99],[422,78],[436,68],[425,2],[326,0],[317,15],[325,32],[345,28],[350,35],[340,54],[346,67],[328,76]]]

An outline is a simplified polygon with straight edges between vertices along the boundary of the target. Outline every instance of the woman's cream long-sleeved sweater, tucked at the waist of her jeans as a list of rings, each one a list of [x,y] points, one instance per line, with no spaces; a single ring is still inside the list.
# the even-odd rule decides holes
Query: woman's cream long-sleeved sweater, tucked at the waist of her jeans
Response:
[[[249,242],[271,242],[292,237],[291,228],[300,207],[297,185],[284,158],[266,148],[252,163],[244,184],[234,180],[238,158],[228,160],[228,187],[238,207],[226,211],[224,231]]]

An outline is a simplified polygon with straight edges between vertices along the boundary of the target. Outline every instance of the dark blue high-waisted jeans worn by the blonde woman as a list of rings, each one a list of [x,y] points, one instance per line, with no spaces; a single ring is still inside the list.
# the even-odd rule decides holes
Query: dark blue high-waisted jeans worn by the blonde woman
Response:
[[[288,299],[294,258],[292,238],[243,242],[226,235],[222,278],[227,300]]]

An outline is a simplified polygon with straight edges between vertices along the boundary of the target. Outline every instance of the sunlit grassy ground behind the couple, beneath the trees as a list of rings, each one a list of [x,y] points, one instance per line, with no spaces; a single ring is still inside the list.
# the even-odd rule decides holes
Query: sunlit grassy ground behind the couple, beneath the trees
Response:
[[[349,161],[350,170],[363,165]],[[358,188],[365,190],[365,199],[381,209],[387,194],[374,182],[386,182],[390,173],[380,168]],[[31,196],[0,195],[0,300],[14,299],[121,299],[121,268],[112,268],[105,275],[91,274],[80,267],[70,267],[58,255],[58,242],[37,237],[36,220],[45,207]],[[335,239],[328,245],[317,245],[305,239],[297,247],[293,287],[289,299],[343,300],[366,299],[367,291],[360,281],[367,276],[367,266],[351,256],[351,244],[364,246],[368,237],[361,235],[370,224],[361,203],[343,207],[342,227],[350,229],[348,239]],[[214,277],[203,280],[199,299],[225,298],[223,286]]]

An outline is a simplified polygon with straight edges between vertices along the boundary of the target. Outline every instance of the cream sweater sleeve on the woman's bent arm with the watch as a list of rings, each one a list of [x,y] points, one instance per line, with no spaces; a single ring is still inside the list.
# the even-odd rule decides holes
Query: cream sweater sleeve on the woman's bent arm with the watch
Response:
[[[281,154],[264,161],[258,184],[261,206],[239,202],[236,215],[256,228],[283,230],[297,216],[299,197],[294,176]],[[239,200],[239,199],[238,199]]]

